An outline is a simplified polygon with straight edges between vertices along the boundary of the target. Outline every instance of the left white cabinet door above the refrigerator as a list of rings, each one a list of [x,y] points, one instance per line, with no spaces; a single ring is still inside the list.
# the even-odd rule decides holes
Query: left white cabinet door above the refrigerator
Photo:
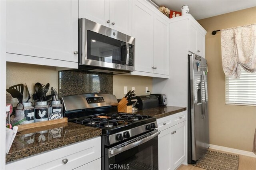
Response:
[[[197,29],[196,25],[188,22],[188,51],[198,54],[197,52]]]

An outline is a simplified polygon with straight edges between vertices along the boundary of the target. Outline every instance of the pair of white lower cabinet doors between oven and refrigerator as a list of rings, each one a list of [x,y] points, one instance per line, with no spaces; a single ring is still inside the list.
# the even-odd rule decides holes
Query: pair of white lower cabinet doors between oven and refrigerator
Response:
[[[158,129],[161,131],[158,135],[159,170],[174,170],[186,159],[186,121],[161,129]]]

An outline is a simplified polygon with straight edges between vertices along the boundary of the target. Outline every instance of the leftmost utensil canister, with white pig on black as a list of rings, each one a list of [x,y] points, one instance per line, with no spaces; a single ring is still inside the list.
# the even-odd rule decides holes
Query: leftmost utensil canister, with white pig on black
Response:
[[[25,121],[23,121],[20,124],[28,124],[28,123],[34,123],[34,107],[32,106],[32,102],[27,103],[18,103],[16,109],[15,109],[15,117],[24,117],[26,118]]]

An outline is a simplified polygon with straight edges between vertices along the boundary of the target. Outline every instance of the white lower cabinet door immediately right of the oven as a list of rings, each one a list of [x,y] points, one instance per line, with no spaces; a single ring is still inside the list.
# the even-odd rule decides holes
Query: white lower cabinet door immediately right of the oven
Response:
[[[158,135],[158,168],[171,169],[171,128],[162,130]]]

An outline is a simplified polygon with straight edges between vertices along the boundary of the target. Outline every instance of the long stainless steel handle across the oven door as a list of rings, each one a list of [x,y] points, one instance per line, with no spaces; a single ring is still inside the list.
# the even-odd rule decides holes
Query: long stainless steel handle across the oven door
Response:
[[[150,132],[150,133],[151,133],[151,132]],[[150,133],[148,133],[148,134],[150,134]],[[138,140],[138,141],[136,141],[136,142],[133,142],[133,143],[131,143],[131,144],[128,144],[128,145],[126,145],[126,146],[123,146],[123,147],[121,147],[121,148],[115,148],[115,147],[113,147],[113,148],[108,149],[108,157],[111,158],[112,156],[115,156],[115,155],[117,155],[117,154],[120,154],[121,152],[124,152],[124,151],[126,151],[126,150],[128,150],[128,149],[134,148],[134,147],[136,147],[136,146],[138,146],[138,145],[140,145],[140,144],[143,144],[143,143],[145,143],[145,142],[148,142],[148,141],[151,140],[152,138],[158,136],[158,134],[160,134],[160,131],[154,130],[152,133],[153,133],[152,135],[150,135],[150,136],[148,136],[148,137],[146,137],[146,138],[143,138],[143,139],[141,139],[141,140]],[[140,138],[140,137],[138,137],[138,138]],[[137,138],[137,139],[138,139],[138,138]]]

